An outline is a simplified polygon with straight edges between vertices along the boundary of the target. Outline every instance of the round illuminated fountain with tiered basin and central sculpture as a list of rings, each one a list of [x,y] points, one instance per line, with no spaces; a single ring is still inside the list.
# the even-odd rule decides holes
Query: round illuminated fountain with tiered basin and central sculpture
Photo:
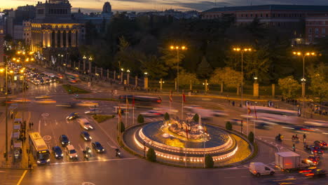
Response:
[[[165,163],[201,165],[206,154],[212,156],[215,163],[233,158],[238,152],[237,137],[216,125],[205,125],[187,117],[131,127],[123,139],[126,146],[140,155],[151,147],[157,159]]]

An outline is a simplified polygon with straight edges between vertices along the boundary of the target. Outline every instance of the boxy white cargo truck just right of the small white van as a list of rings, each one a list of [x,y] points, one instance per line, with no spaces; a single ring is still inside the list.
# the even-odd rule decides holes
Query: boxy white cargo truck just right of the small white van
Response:
[[[275,153],[275,165],[281,170],[306,167],[301,163],[301,156],[293,151],[284,151]]]

